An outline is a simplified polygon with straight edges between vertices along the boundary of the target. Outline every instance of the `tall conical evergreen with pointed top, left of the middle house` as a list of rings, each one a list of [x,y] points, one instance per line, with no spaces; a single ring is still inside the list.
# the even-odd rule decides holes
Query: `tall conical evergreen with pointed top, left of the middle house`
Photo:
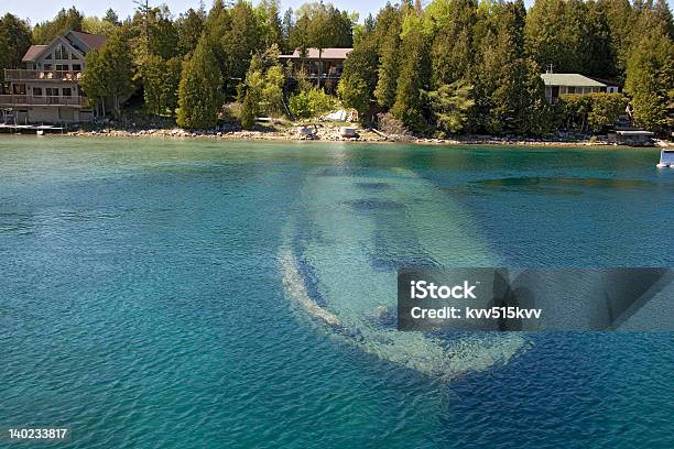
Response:
[[[222,78],[217,61],[202,39],[192,57],[183,64],[178,88],[177,124],[182,128],[213,128],[222,106]]]

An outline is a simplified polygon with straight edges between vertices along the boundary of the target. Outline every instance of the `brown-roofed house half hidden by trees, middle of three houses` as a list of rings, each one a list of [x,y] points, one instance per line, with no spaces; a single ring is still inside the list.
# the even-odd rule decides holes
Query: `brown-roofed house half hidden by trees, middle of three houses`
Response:
[[[295,50],[292,55],[281,55],[279,61],[286,65],[289,62],[293,67],[304,67],[309,79],[323,79],[326,84],[339,80],[344,70],[344,62],[354,48],[307,48],[304,54]]]

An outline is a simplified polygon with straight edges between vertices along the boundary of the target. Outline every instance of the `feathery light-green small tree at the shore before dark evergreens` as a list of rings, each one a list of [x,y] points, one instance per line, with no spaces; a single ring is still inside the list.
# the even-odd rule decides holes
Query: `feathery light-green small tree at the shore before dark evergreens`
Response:
[[[468,110],[475,106],[471,91],[472,85],[458,80],[427,92],[431,110],[441,132],[457,133],[464,129]]]

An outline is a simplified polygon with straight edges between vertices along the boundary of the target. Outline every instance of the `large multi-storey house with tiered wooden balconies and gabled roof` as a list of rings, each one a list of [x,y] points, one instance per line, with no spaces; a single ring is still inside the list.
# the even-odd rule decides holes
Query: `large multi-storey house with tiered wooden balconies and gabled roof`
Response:
[[[12,121],[73,123],[94,119],[94,109],[79,87],[85,55],[100,48],[106,36],[70,31],[48,45],[31,45],[24,68],[6,69],[0,108]]]

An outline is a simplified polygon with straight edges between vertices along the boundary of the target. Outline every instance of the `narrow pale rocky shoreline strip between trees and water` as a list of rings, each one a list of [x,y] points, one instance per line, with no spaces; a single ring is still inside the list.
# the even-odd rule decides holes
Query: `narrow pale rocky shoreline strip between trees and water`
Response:
[[[33,133],[1,133],[7,135],[35,135]],[[534,146],[534,147],[659,147],[668,146],[671,142],[656,141],[652,146],[631,146],[608,143],[602,141],[562,141],[543,139],[509,139],[487,135],[466,136],[461,139],[432,139],[432,138],[409,138],[395,139],[384,138],[368,132],[367,136],[341,138],[330,133],[319,133],[314,138],[278,131],[188,131],[180,128],[175,129],[149,129],[149,130],[120,130],[104,129],[99,131],[68,131],[63,133],[47,133],[44,136],[76,136],[76,138],[112,138],[112,139],[157,139],[157,140],[203,140],[203,141],[273,141],[273,142],[352,142],[352,143],[399,143],[414,145],[502,145],[502,146]],[[371,135],[373,134],[373,135]],[[660,143],[660,145],[659,145]]]

